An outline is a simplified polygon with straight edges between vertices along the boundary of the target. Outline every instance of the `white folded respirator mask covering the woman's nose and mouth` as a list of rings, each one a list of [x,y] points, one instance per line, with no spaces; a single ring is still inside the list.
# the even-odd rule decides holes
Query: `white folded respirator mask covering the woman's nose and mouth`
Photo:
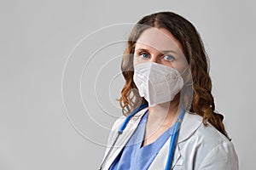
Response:
[[[154,62],[136,65],[133,81],[150,106],[172,101],[183,88],[183,77],[177,70]]]

